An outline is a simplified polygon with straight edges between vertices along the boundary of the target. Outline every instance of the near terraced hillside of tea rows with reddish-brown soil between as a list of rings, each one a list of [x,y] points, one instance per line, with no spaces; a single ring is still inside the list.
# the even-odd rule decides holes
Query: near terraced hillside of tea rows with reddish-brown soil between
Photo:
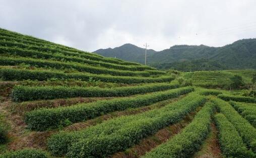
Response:
[[[255,157],[252,97],[3,29],[0,77],[0,157]]]

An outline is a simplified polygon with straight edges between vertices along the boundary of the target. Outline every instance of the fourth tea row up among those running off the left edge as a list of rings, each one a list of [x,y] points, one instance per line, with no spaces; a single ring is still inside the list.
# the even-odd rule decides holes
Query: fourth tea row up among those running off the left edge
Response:
[[[62,53],[62,54],[73,55],[73,56],[75,55],[78,57],[83,57],[83,58],[87,58],[87,59],[91,59],[91,60],[115,63],[115,64],[120,64],[120,65],[141,65],[141,64],[133,63],[133,62],[116,60],[114,58],[106,58],[106,57],[102,57],[102,56],[98,56],[98,55],[94,55],[94,54],[92,55],[91,53],[87,53],[87,52],[79,53],[79,52],[63,51],[58,48],[51,48],[51,47],[45,47],[45,46],[40,47],[40,46],[36,46],[36,45],[27,45],[24,43],[17,43],[17,42],[12,42],[12,41],[2,40],[2,41],[0,41],[0,45],[8,46],[8,47],[26,48],[26,49],[30,49],[30,50],[37,50],[37,51],[43,51],[43,52]]]

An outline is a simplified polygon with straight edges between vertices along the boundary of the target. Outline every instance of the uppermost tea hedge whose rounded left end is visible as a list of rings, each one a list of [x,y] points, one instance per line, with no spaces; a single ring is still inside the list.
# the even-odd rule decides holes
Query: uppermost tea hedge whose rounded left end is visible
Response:
[[[112,97],[155,92],[175,88],[177,86],[177,84],[170,83],[153,83],[142,86],[127,86],[115,88],[78,86],[15,86],[12,90],[11,96],[14,101],[72,97]]]

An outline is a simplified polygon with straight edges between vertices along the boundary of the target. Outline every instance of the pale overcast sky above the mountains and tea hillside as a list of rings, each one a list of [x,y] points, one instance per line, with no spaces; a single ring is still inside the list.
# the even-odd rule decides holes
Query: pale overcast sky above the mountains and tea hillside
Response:
[[[0,0],[0,27],[85,51],[256,38],[256,1]]]

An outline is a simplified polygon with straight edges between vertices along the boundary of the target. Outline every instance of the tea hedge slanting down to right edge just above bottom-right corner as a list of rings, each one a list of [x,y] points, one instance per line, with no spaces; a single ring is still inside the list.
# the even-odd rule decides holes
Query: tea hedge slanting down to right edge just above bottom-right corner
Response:
[[[256,129],[239,115],[229,103],[218,98],[214,98],[212,101],[217,105],[219,111],[234,125],[244,143],[248,145],[253,152],[256,152]]]

